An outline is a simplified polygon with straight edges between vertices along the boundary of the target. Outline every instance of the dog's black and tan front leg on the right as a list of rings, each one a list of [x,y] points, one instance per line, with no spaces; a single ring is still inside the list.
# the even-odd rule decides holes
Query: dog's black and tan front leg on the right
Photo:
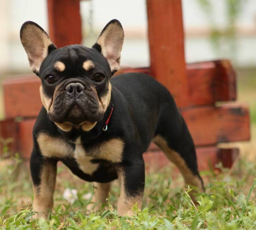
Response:
[[[143,159],[136,159],[132,163],[119,168],[118,179],[120,197],[117,204],[119,216],[132,216],[132,207],[137,203],[140,210],[145,187],[145,164]]]

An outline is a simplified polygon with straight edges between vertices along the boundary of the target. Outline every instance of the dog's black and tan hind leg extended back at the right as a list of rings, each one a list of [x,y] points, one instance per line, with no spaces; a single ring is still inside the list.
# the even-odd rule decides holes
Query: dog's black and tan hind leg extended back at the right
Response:
[[[178,167],[186,184],[201,192],[204,191],[204,184],[197,168],[194,143],[178,110],[165,109],[164,113],[160,114],[153,141],[162,149],[166,157]]]

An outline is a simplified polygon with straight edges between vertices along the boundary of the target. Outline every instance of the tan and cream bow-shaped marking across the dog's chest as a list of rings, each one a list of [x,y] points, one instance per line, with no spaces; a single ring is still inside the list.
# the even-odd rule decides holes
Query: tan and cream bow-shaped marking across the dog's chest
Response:
[[[111,163],[122,161],[124,142],[120,138],[113,138],[107,141],[85,148],[81,144],[80,137],[77,139],[75,148],[60,137],[50,137],[41,133],[37,137],[40,152],[48,158],[74,158],[78,167],[86,174],[93,174],[99,167],[98,163],[92,160],[107,160]]]

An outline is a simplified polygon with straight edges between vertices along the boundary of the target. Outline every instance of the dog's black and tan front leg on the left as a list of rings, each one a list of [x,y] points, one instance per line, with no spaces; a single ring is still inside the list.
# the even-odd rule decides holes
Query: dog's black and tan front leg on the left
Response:
[[[33,217],[47,218],[53,206],[53,193],[55,190],[57,161],[44,158],[37,151],[32,152],[30,169],[33,181],[33,210],[38,212]]]

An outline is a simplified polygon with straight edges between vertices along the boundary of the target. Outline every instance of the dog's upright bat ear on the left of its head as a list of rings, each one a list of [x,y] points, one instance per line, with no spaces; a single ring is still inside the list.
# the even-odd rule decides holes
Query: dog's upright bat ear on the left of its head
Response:
[[[51,39],[38,24],[26,21],[20,30],[21,43],[28,55],[31,70],[39,75],[40,66],[48,54],[57,49]]]

